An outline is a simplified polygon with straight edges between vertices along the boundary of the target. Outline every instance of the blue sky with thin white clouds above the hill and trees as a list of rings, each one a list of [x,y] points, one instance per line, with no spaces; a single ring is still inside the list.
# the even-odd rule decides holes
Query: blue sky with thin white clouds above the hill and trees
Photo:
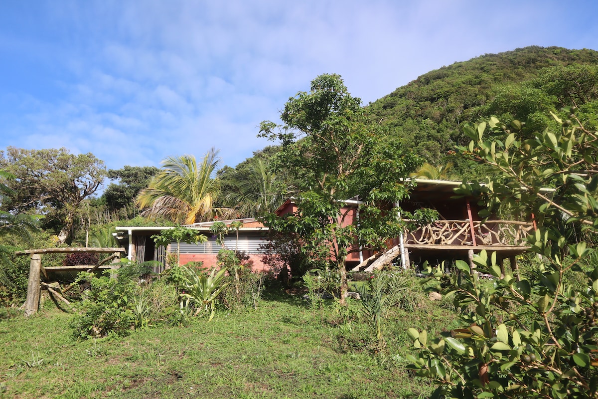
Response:
[[[0,0],[0,149],[159,166],[267,144],[258,124],[322,73],[364,103],[527,45],[598,50],[588,1]]]

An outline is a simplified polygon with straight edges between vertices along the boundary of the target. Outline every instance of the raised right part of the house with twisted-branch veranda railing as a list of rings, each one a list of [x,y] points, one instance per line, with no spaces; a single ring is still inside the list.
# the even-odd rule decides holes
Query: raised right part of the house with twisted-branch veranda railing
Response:
[[[478,197],[456,198],[454,188],[460,181],[414,179],[416,186],[410,197],[399,203],[404,211],[421,208],[435,209],[438,220],[431,224],[405,231],[402,236],[389,240],[385,253],[364,248],[353,248],[347,255],[346,263],[353,271],[372,270],[392,261],[407,268],[411,264],[420,265],[425,261],[432,264],[441,261],[465,260],[471,263],[474,254],[486,250],[495,252],[499,263],[510,260],[516,268],[516,256],[529,250],[525,238],[535,229],[533,221],[497,220],[488,218],[482,223],[478,217],[480,207]],[[545,191],[551,191],[545,189]],[[345,215],[344,224],[359,220],[358,200],[347,200],[341,209]],[[292,201],[285,202],[277,210],[278,215],[297,211]]]

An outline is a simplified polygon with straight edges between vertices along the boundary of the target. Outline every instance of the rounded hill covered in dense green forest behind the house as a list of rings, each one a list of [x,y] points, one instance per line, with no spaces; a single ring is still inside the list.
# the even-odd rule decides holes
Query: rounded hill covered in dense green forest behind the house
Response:
[[[443,66],[367,108],[373,121],[438,165],[466,141],[460,129],[465,121],[535,115],[548,124],[548,111],[576,105],[594,123],[585,115],[597,107],[597,83],[598,51],[530,46]]]

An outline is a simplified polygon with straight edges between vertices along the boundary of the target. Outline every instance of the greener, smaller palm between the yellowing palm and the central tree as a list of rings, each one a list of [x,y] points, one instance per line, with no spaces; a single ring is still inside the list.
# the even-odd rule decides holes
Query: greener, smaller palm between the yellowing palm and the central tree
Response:
[[[246,169],[236,170],[236,193],[228,194],[225,203],[244,217],[264,212],[274,212],[282,202],[282,190],[277,190],[276,175],[270,172],[263,160],[254,158]]]

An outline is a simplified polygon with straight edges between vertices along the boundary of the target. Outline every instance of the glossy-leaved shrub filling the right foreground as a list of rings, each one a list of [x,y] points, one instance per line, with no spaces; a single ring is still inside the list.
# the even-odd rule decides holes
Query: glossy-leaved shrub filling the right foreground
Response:
[[[567,120],[553,114],[562,132],[494,118],[490,138],[486,124],[464,129],[472,142],[459,151],[493,173],[486,185],[463,184],[460,192],[486,193],[490,209],[542,214],[542,226],[528,238],[541,260],[527,278],[503,277],[496,257],[482,252],[474,263],[494,277],[486,287],[463,262],[459,273],[434,274],[441,294],[454,293],[462,327],[434,339],[408,331],[417,349],[410,367],[438,382],[433,397],[598,397],[598,265],[585,242],[568,242],[562,223],[596,232],[598,135],[584,128],[575,108],[564,111]],[[548,197],[542,187],[556,190]],[[570,273],[585,275],[587,285],[572,284]]]

